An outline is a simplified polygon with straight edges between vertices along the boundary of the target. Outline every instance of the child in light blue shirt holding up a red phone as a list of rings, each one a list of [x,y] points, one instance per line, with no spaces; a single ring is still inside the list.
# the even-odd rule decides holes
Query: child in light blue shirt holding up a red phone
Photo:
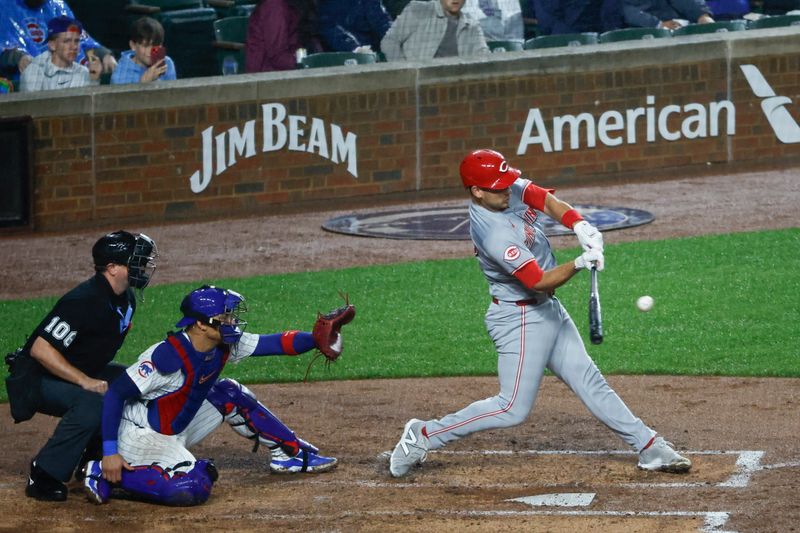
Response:
[[[166,55],[164,27],[155,19],[142,17],[131,25],[131,47],[119,58],[111,83],[150,83],[178,78],[175,63]]]

